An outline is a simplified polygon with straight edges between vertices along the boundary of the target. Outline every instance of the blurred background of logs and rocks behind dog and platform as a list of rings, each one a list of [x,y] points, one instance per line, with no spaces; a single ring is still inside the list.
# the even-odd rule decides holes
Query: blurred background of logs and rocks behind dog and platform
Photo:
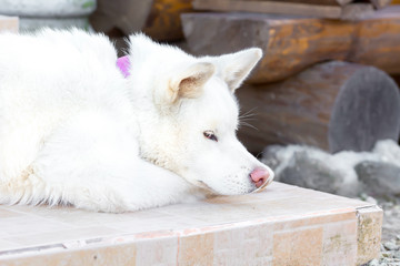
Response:
[[[138,31],[196,55],[261,48],[240,140],[278,181],[378,202],[400,249],[400,0],[0,0],[0,31],[42,27],[102,32],[120,55]]]

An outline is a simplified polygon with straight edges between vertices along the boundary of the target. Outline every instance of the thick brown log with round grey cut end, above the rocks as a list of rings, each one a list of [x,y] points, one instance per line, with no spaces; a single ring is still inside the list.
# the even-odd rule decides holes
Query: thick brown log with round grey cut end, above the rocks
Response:
[[[247,122],[258,130],[239,131],[251,152],[269,144],[369,151],[378,140],[399,137],[399,88],[372,66],[321,63],[283,82],[244,85],[237,94],[242,113],[254,115]]]

